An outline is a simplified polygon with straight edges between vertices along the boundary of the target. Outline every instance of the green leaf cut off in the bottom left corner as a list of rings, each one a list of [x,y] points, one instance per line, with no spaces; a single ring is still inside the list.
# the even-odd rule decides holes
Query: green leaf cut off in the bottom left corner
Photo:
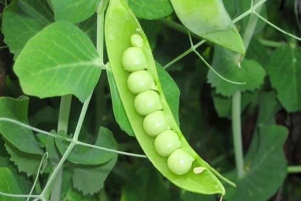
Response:
[[[0,191],[10,194],[22,194],[17,180],[9,168],[0,167]],[[0,195],[1,201],[21,201],[25,198]]]

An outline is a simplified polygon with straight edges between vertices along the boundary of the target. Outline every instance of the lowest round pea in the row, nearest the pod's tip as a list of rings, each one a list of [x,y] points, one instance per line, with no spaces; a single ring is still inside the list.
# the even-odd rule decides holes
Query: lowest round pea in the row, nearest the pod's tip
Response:
[[[183,175],[191,169],[193,161],[193,157],[180,148],[168,157],[167,166],[174,174]]]

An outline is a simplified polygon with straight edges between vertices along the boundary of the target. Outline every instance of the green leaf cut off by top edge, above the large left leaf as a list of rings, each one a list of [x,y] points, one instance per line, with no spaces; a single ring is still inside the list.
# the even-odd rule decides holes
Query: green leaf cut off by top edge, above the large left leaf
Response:
[[[67,20],[73,23],[82,22],[91,17],[100,0],[52,0],[56,21]]]

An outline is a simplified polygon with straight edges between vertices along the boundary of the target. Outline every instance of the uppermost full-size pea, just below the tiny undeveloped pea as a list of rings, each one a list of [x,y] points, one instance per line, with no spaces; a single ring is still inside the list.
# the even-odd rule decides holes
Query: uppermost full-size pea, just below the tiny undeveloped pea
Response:
[[[145,69],[147,62],[142,49],[138,47],[127,48],[122,55],[122,65],[129,72]]]

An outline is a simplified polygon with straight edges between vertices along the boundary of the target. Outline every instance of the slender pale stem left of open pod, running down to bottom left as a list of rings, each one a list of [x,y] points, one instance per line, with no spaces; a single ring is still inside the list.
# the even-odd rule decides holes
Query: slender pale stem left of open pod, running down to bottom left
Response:
[[[97,52],[99,53],[101,64],[103,64],[103,40],[104,40],[103,39],[103,36],[104,36],[103,25],[104,25],[104,10],[106,8],[106,4],[107,4],[106,0],[101,1],[100,5],[98,7],[98,12],[97,12],[98,13],[98,15],[97,15]],[[59,161],[57,166],[54,168],[52,174],[50,175],[50,177],[41,193],[41,197],[43,197],[44,199],[46,199],[48,197],[48,192],[49,192],[50,188],[52,187],[54,178],[57,176],[57,174],[63,167],[64,162],[66,161],[67,157],[71,153],[74,146],[78,143],[79,133],[82,128],[85,115],[87,113],[87,109],[88,109],[88,106],[89,106],[89,103],[91,100],[91,96],[92,96],[92,94],[89,95],[89,97],[85,100],[85,102],[83,104],[83,108],[81,110],[81,113],[80,113],[80,116],[79,116],[79,119],[77,122],[74,136],[72,138],[72,142],[69,144],[69,146],[68,146],[67,150],[65,151],[65,153],[63,154],[61,160]]]

